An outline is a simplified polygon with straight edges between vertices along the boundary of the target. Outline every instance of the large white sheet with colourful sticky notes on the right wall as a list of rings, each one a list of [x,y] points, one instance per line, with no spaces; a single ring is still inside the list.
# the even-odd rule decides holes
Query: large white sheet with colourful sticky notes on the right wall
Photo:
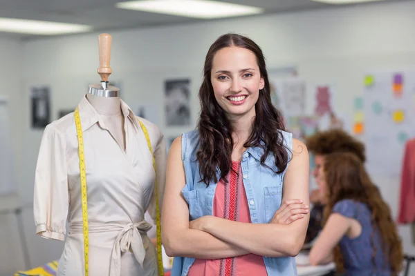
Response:
[[[367,86],[367,76],[373,77]],[[398,177],[403,146],[415,136],[415,70],[385,70],[365,77],[365,146],[371,172]],[[360,130],[356,125],[356,131]]]

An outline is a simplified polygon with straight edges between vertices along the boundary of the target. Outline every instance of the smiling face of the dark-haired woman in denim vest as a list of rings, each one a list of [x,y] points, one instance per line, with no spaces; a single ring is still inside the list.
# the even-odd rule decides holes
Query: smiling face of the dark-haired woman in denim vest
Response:
[[[264,79],[253,52],[236,46],[222,48],[214,55],[210,76],[214,97],[230,119],[255,116]]]

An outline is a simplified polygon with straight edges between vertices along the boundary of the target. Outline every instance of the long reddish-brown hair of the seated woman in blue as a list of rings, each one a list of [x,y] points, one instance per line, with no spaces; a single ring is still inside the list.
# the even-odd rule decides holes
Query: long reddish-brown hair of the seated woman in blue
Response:
[[[403,264],[402,242],[391,217],[391,210],[382,199],[380,191],[373,184],[357,155],[350,152],[336,152],[324,157],[324,177],[327,185],[328,203],[324,209],[324,224],[336,202],[353,199],[366,204],[371,210],[371,247],[372,262],[376,268],[375,257],[378,250],[385,255],[384,264],[391,266],[392,275],[397,276]],[[376,245],[374,235],[378,232],[382,244]],[[334,250],[334,259],[338,272],[344,271],[340,246]]]

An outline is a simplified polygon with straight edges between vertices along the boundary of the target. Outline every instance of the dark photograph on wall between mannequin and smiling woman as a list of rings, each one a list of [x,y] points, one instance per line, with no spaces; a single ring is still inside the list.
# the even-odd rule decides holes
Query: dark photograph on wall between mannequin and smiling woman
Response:
[[[190,79],[165,81],[167,126],[190,126]]]

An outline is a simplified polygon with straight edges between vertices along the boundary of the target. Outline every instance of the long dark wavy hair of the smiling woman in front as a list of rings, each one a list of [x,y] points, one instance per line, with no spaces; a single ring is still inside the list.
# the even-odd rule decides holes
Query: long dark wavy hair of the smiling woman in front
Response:
[[[240,47],[250,50],[257,57],[261,77],[264,79],[264,89],[259,90],[259,97],[255,103],[255,120],[252,132],[244,147],[259,147],[264,150],[261,156],[261,165],[270,153],[275,159],[276,173],[283,172],[288,164],[288,152],[284,147],[282,133],[284,121],[281,113],[273,106],[270,97],[270,82],[266,71],[265,59],[261,48],[257,44],[239,34],[223,34],[216,39],[208,50],[203,68],[203,83],[199,89],[201,115],[197,128],[199,130],[199,150],[196,153],[200,164],[201,181],[209,186],[210,181],[217,182],[216,168],[219,168],[225,181],[231,169],[231,155],[234,147],[232,140],[232,126],[214,97],[211,81],[212,61],[216,52],[226,47]],[[269,168],[269,167],[268,167]]]

